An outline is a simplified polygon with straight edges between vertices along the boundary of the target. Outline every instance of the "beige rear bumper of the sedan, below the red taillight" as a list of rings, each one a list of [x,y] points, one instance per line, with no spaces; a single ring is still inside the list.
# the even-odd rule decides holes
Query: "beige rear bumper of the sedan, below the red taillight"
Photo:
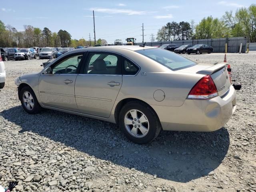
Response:
[[[236,91],[230,86],[223,97],[188,100],[180,107],[151,105],[158,114],[163,130],[215,131],[224,126],[236,110]]]

